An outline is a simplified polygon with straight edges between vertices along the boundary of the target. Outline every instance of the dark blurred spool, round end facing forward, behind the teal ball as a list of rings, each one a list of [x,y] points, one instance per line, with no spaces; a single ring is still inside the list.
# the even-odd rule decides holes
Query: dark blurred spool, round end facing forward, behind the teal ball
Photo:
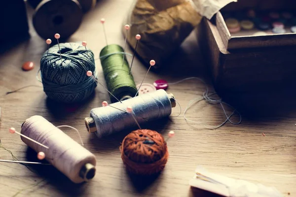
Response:
[[[43,39],[54,40],[55,33],[66,40],[80,26],[82,9],[77,0],[42,0],[33,15],[33,25]]]

